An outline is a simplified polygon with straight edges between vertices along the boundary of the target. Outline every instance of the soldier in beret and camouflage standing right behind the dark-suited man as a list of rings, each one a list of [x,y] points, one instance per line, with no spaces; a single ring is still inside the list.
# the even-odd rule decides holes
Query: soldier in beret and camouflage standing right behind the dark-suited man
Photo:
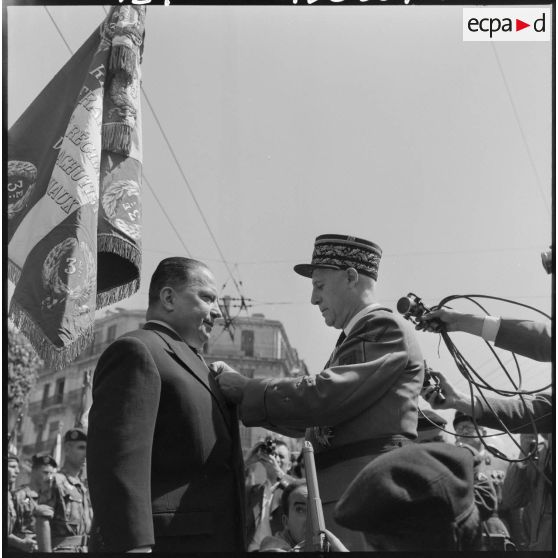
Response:
[[[35,510],[40,552],[87,552],[92,510],[80,472],[87,435],[72,428],[64,435],[64,465],[39,497]]]

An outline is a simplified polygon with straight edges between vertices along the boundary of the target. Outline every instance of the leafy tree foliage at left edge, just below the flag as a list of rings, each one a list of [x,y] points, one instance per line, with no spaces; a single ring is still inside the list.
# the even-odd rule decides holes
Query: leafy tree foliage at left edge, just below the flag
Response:
[[[43,361],[31,343],[8,323],[8,405],[20,411],[37,380]]]

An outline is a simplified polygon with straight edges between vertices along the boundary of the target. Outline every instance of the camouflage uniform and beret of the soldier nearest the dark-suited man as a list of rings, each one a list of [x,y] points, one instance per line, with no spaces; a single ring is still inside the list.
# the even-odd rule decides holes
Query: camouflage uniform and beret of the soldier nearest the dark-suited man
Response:
[[[74,432],[79,434],[72,437]],[[87,439],[77,429],[68,434],[72,441]],[[55,473],[48,489],[39,496],[35,515],[50,520],[53,552],[87,552],[93,513],[89,491],[79,477],[69,474],[64,467]]]

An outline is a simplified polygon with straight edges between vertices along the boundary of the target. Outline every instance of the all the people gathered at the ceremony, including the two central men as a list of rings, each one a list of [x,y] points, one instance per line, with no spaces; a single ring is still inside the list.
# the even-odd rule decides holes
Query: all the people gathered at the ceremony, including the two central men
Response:
[[[206,364],[220,317],[215,278],[202,262],[163,260],[146,324],[99,359],[88,432],[66,433],[62,467],[34,456],[29,486],[16,489],[18,458],[8,456],[9,547],[304,550],[308,486],[290,437],[312,443],[330,550],[552,550],[551,395],[471,401],[440,372],[436,386],[425,383],[415,332],[376,300],[381,255],[360,238],[316,239],[311,263],[295,271],[341,335],[322,371],[276,379]],[[552,356],[550,329],[536,322],[442,308],[418,327]],[[437,409],[455,410],[455,442]],[[243,456],[239,418],[276,434]],[[530,456],[507,472],[480,442],[483,428],[502,425],[522,434],[520,457]]]

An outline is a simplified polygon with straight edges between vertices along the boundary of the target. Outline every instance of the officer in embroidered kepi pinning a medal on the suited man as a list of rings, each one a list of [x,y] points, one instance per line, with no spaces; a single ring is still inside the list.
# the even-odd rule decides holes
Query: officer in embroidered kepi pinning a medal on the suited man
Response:
[[[326,234],[316,239],[312,262],[295,266],[312,279],[311,303],[326,325],[343,330],[319,374],[248,379],[212,364],[246,426],[312,442],[326,528],[352,551],[366,549],[364,537],[335,523],[335,503],[371,459],[417,437],[424,377],[412,328],[376,302],[381,253],[368,240]]]

